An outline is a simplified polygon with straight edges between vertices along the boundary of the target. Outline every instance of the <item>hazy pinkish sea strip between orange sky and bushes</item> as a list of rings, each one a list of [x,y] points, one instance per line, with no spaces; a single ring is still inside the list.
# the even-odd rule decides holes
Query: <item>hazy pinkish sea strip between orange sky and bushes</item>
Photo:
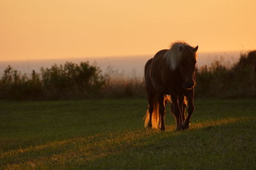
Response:
[[[216,60],[220,61],[225,66],[234,65],[240,57],[241,52],[202,52],[198,53],[197,67],[211,66]],[[65,64],[65,62],[74,62],[79,64],[82,61],[89,61],[90,64],[96,64],[100,67],[103,73],[112,70],[117,70],[119,73],[126,75],[136,74],[143,76],[144,65],[152,55],[126,56],[126,57],[84,57],[70,59],[47,59],[47,60],[17,60],[17,61],[0,61],[0,75],[3,75],[4,69],[10,65],[13,69],[17,69],[21,73],[31,74],[32,70],[40,72],[41,67],[51,67],[53,64]]]

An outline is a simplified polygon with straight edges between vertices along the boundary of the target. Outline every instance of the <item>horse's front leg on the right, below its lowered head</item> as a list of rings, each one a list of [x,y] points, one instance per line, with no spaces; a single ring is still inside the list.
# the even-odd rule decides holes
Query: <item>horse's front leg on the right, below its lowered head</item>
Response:
[[[186,117],[185,121],[182,123],[182,129],[189,129],[190,118],[195,110],[194,89],[188,93],[187,99],[188,99],[188,116]]]

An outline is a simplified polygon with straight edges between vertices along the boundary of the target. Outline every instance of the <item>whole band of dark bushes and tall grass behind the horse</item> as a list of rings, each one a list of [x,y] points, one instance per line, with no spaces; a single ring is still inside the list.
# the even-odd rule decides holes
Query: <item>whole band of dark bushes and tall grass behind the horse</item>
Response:
[[[241,54],[227,67],[216,61],[196,69],[196,97],[256,96],[256,51]],[[95,64],[66,62],[40,73],[21,74],[11,66],[0,78],[0,99],[74,99],[145,97],[144,78],[109,67],[102,73]]]

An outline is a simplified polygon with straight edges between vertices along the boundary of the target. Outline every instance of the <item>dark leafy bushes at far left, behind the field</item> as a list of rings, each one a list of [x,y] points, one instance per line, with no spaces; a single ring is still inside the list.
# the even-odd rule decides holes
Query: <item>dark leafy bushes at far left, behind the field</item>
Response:
[[[0,80],[1,99],[67,99],[90,98],[104,88],[105,79],[99,67],[88,62],[79,65],[54,64],[31,76],[8,66]]]

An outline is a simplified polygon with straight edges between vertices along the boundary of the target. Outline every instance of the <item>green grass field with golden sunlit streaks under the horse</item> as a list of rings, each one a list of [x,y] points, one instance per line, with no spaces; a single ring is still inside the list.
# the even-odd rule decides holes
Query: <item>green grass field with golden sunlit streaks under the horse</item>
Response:
[[[256,169],[256,99],[196,99],[188,131],[144,99],[0,101],[2,169]]]

